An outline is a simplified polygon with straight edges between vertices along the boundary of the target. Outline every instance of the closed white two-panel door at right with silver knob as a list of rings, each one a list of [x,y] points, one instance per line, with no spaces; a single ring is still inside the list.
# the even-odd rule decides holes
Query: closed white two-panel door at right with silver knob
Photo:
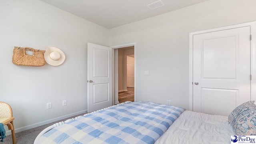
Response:
[[[228,116],[250,100],[250,26],[193,36],[193,111]]]

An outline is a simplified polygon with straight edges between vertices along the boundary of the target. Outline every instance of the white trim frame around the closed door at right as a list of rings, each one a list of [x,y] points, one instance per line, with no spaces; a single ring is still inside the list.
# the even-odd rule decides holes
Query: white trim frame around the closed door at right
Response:
[[[250,26],[250,32],[252,36],[252,40],[250,41],[250,73],[252,75],[252,80],[250,81],[250,100],[256,100],[256,21],[254,21],[189,33],[189,110],[193,111],[193,36],[196,34],[204,34],[208,32],[240,28],[245,26]]]

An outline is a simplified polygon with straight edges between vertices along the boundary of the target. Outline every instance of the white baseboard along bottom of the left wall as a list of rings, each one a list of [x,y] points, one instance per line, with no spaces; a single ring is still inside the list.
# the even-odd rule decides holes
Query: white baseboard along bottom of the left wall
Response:
[[[62,120],[62,119],[65,119],[65,118],[69,118],[69,117],[72,117],[72,116],[76,116],[76,115],[78,115],[78,114],[82,114],[82,113],[85,113],[85,112],[87,112],[87,110],[82,110],[82,111],[80,111],[80,112],[75,112],[75,113],[72,113],[72,114],[67,114],[67,115],[65,115],[65,116],[60,116],[60,117],[58,117],[58,118],[53,118],[53,119],[46,120],[46,121],[43,121],[43,122],[38,122],[38,123],[36,123],[36,124],[31,124],[31,125],[24,126],[24,127],[21,127],[21,128],[15,128],[15,120],[14,120],[14,130],[15,130],[15,133],[17,133],[17,132],[22,132],[22,131],[24,131],[24,130],[29,130],[29,129],[31,129],[31,128],[36,128],[36,127],[42,126],[42,125],[44,125],[44,124],[49,124],[49,123],[52,123],[52,122],[56,122],[56,121],[58,121],[58,120]],[[8,135],[11,135],[12,132],[11,132],[10,130],[8,130],[8,131],[6,131],[5,134],[6,134],[6,136],[8,136]]]

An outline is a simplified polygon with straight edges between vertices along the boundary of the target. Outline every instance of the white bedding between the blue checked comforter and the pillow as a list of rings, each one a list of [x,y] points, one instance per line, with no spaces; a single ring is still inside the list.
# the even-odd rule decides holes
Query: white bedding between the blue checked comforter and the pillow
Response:
[[[230,144],[227,116],[184,111],[154,144]]]

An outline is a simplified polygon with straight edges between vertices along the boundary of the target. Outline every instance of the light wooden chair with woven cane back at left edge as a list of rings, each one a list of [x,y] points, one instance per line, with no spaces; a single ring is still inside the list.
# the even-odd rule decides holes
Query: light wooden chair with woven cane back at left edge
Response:
[[[16,144],[13,120],[11,106],[5,102],[0,102],[0,123],[7,125],[8,129],[12,131],[12,143]]]

